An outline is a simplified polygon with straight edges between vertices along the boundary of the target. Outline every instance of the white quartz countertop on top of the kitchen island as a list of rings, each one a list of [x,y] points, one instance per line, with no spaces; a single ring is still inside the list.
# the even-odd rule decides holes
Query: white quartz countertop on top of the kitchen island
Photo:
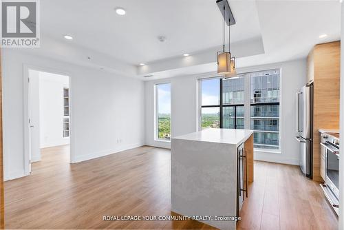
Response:
[[[239,145],[253,134],[250,129],[203,129],[199,132],[176,136],[172,139],[196,140],[211,143]]]

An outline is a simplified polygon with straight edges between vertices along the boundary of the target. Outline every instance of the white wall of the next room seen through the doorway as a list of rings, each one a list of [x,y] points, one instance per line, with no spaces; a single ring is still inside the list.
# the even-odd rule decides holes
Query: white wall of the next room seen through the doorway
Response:
[[[69,144],[63,137],[63,88],[69,88],[69,77],[39,72],[40,147]]]

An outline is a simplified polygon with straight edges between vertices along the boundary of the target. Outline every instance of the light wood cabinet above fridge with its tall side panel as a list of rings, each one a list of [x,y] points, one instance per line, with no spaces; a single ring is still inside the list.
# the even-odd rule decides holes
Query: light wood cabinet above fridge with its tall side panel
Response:
[[[321,178],[319,129],[339,129],[341,43],[315,45],[308,55],[308,82],[314,83],[313,180]]]

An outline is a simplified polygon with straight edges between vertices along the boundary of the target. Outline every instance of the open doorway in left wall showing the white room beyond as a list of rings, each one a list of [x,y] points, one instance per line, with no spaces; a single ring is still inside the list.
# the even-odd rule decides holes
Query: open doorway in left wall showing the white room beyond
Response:
[[[70,162],[69,76],[28,70],[29,172]]]

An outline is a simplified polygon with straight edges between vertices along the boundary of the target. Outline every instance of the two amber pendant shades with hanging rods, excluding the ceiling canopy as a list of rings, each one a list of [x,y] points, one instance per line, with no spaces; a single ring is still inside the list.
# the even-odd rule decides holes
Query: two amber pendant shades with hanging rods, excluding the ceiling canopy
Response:
[[[224,5],[224,43],[225,43],[225,19],[226,19],[226,7]],[[235,57],[230,54],[230,19],[228,17],[228,52],[224,49],[222,52],[217,52],[217,73],[224,75],[225,77],[233,77],[237,74],[235,70]]]

